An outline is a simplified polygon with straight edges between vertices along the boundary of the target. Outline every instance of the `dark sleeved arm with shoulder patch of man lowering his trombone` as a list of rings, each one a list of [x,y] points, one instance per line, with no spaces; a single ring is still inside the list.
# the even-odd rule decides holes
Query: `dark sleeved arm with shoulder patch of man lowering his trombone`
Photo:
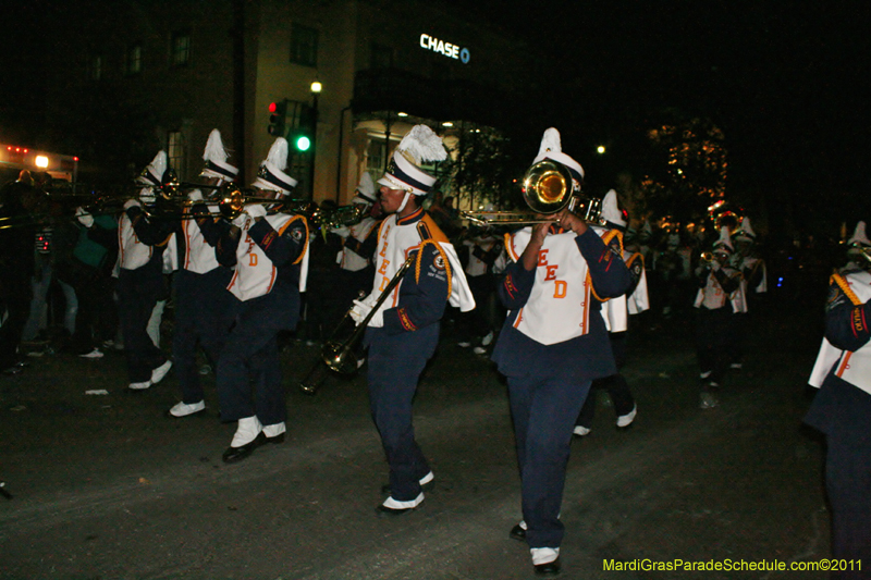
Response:
[[[412,264],[400,286],[398,305],[384,310],[388,334],[416,331],[438,322],[444,314],[449,298],[444,259],[432,244],[424,246],[421,251],[419,275],[416,264]]]

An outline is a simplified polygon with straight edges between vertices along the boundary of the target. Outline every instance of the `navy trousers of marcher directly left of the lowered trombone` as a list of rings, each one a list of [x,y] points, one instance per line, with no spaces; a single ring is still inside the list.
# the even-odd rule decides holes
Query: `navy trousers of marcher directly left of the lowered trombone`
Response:
[[[280,423],[287,419],[287,407],[278,334],[287,328],[287,308],[271,294],[233,300],[232,326],[216,375],[221,420],[257,416],[265,425]]]

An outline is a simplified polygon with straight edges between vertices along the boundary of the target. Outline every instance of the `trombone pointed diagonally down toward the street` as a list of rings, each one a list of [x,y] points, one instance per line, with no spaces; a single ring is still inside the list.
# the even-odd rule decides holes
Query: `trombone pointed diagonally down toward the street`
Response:
[[[405,272],[408,270],[408,268],[410,268],[412,263],[414,263],[416,257],[416,254],[412,254],[405,259],[400,269],[396,270],[396,273],[393,274],[393,277],[390,280],[387,287],[384,287],[384,289],[378,296],[372,309],[369,310],[369,313],[366,316],[366,318],[364,318],[360,323],[354,328],[354,331],[351,333],[351,335],[344,341],[336,341],[334,336],[339,334],[343,326],[346,325],[348,320],[354,320],[351,317],[351,311],[354,309],[354,307],[352,306],[348,308],[347,312],[345,312],[345,316],[339,322],[339,325],[330,336],[330,340],[323,343],[323,347],[320,351],[321,360],[315,365],[311,371],[309,371],[306,378],[299,383],[299,388],[303,391],[303,393],[307,395],[314,395],[317,393],[318,385],[322,380],[322,375],[319,375],[318,373],[321,368],[321,361],[327,365],[327,368],[338,372],[339,374],[344,374],[347,377],[356,372],[357,356],[354,354],[354,348],[357,346],[357,343],[366,332],[366,326],[369,324],[369,321],[372,319],[378,309],[381,308],[381,305],[384,304],[384,300],[388,299],[393,289],[400,284],[400,282],[402,282],[402,277],[405,275]],[[317,380],[312,380],[316,378]]]

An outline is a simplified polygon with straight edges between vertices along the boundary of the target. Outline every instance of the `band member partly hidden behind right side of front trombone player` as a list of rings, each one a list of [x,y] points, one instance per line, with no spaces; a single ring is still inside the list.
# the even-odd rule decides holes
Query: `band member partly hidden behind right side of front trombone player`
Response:
[[[603,387],[608,391],[611,402],[614,404],[614,412],[617,415],[617,427],[625,429],[635,421],[638,414],[629,384],[619,373],[619,369],[626,360],[626,331],[628,330],[629,314],[643,312],[650,308],[650,303],[647,296],[643,257],[640,252],[631,252],[622,247],[621,239],[626,231],[627,222],[617,207],[617,193],[614,189],[605,194],[602,199],[602,218],[605,220],[604,227],[598,225],[591,227],[605,244],[621,252],[623,261],[629,269],[631,282],[626,294],[611,298],[602,305],[602,317],[608,328],[608,338],[611,342],[618,372],[611,377],[597,379],[592,386],[593,388]],[[589,434],[594,416],[596,397],[588,396],[575,423],[575,434],[578,436]]]

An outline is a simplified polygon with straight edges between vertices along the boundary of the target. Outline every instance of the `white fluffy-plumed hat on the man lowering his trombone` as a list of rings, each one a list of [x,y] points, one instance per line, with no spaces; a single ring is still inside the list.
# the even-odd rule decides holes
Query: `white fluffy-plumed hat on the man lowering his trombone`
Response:
[[[420,169],[425,161],[444,161],[447,150],[441,137],[427,125],[415,125],[402,138],[384,175],[378,183],[391,189],[402,189],[416,196],[425,196],[432,189],[436,177]]]

